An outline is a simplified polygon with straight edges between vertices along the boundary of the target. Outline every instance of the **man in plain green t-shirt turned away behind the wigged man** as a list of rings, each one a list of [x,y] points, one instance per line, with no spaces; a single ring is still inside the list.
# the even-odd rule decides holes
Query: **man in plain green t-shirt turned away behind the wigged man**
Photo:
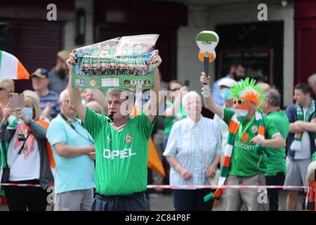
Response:
[[[268,89],[265,91],[265,100],[261,104],[263,112],[267,114],[266,120],[270,120],[280,132],[284,140],[287,140],[289,134],[289,119],[283,110],[280,110],[281,96],[277,89]],[[283,186],[287,166],[285,163],[285,147],[267,148],[267,169],[265,170],[265,184]],[[278,188],[268,188],[269,210],[277,211],[279,209],[279,191]]]

